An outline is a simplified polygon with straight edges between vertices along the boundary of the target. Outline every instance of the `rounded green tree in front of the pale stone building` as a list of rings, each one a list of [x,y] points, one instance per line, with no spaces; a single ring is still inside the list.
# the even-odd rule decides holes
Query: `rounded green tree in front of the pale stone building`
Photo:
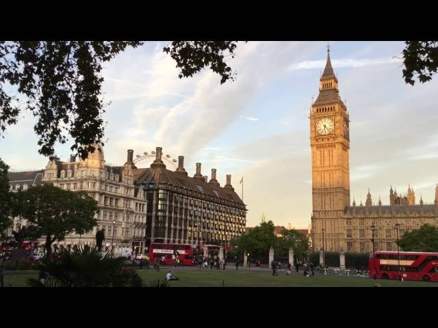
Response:
[[[83,191],[73,192],[43,184],[19,191],[16,199],[14,215],[27,219],[40,236],[46,237],[47,254],[51,254],[54,241],[62,241],[73,232],[83,234],[96,226],[97,202]]]

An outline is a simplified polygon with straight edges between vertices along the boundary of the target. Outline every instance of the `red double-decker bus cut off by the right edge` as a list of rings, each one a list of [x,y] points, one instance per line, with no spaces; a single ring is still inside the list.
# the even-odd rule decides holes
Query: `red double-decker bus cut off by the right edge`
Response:
[[[370,277],[438,282],[438,253],[376,251],[370,256]]]

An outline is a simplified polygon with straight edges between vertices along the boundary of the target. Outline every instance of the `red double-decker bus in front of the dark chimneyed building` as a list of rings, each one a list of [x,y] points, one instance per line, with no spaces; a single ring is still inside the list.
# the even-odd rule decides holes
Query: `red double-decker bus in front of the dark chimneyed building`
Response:
[[[178,260],[183,265],[195,265],[193,259],[193,249],[190,244],[165,244],[165,243],[151,243],[149,246],[149,260],[151,262],[159,258],[164,265],[175,264],[175,254]]]

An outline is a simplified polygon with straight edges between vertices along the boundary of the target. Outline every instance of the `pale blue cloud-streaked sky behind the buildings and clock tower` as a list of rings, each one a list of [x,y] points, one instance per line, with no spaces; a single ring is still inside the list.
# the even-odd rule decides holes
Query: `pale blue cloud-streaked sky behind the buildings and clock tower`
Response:
[[[248,226],[261,213],[276,224],[307,227],[311,215],[309,107],[318,96],[326,42],[248,42],[239,44],[229,64],[237,80],[220,85],[205,70],[178,79],[175,63],[162,53],[167,42],[146,42],[107,64],[104,99],[105,159],[125,163],[126,150],[185,156],[210,176],[217,169],[223,185],[232,175],[248,205]],[[402,79],[403,42],[331,42],[339,92],[350,112],[350,188],[356,202],[389,203],[389,187],[417,202],[432,204],[438,182],[437,79],[406,85]],[[396,57],[394,57],[396,56]],[[34,118],[23,120],[0,139],[0,156],[13,169],[42,168]],[[57,148],[68,159],[69,146]],[[144,166],[149,163],[142,163]],[[140,165],[141,166],[141,165]]]

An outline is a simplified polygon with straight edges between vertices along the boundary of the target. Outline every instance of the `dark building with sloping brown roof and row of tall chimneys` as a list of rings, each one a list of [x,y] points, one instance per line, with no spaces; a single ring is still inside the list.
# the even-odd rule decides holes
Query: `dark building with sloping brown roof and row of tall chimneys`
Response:
[[[164,243],[222,245],[239,237],[246,226],[246,206],[231,185],[220,187],[216,169],[211,179],[201,174],[201,163],[196,163],[196,174],[188,176],[184,157],[179,156],[175,171],[166,169],[162,148],[156,149],[151,167],[133,169],[136,184],[146,193],[146,244]],[[132,157],[128,156],[132,163]]]

